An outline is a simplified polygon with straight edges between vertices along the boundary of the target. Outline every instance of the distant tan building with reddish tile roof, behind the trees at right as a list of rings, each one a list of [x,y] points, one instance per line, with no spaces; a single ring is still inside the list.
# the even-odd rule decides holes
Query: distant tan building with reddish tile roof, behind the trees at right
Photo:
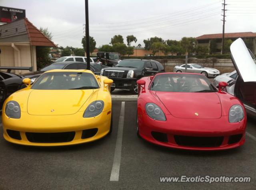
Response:
[[[256,33],[253,33],[253,32],[225,33],[224,38],[231,39],[232,41],[235,41],[238,38],[252,39],[253,48],[251,49],[251,51],[252,53],[256,54]],[[212,39],[216,39],[216,42],[217,42],[218,52],[215,52],[215,53],[220,53],[221,45],[222,45],[222,33],[204,34],[199,37],[196,37],[196,40],[198,41],[198,45],[206,45],[208,47],[210,46],[210,41]]]

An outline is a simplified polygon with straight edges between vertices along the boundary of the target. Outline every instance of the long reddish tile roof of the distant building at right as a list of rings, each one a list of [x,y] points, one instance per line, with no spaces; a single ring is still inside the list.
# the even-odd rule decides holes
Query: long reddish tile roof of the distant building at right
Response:
[[[246,38],[246,37],[256,37],[256,33],[253,32],[236,32],[236,33],[225,33],[225,38]],[[196,37],[196,40],[202,39],[217,39],[222,38],[222,33],[215,33],[215,34],[204,34],[199,37]]]

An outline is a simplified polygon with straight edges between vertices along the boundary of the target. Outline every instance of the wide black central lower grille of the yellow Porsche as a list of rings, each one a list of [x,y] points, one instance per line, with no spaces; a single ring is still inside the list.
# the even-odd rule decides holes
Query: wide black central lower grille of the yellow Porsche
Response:
[[[32,143],[65,143],[74,139],[76,132],[62,133],[29,133],[26,132],[28,141]]]

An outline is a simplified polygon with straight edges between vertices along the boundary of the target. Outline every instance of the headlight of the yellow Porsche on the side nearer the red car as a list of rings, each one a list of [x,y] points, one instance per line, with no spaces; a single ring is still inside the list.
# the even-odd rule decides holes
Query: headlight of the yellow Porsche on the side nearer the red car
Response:
[[[104,108],[104,102],[102,100],[96,100],[92,102],[84,112],[84,118],[92,118],[98,116]]]

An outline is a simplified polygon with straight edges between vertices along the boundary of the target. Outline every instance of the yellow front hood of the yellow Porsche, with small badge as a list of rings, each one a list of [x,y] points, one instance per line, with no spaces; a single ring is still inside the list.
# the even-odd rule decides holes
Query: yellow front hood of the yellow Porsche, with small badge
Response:
[[[70,115],[80,110],[93,90],[32,90],[28,114],[38,116]]]

